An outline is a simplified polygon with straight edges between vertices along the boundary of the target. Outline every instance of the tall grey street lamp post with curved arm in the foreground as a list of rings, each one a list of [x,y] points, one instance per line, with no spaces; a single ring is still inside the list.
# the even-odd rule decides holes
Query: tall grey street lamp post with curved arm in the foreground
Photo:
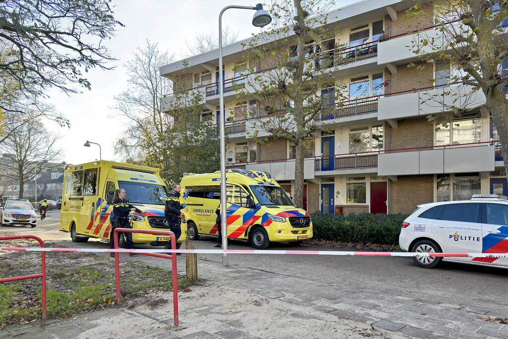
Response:
[[[226,114],[224,112],[224,74],[223,74],[223,61],[222,61],[222,15],[230,9],[237,8],[243,10],[254,10],[256,13],[252,17],[252,25],[256,27],[263,27],[272,21],[272,17],[267,11],[263,9],[262,4],[251,6],[226,6],[219,14],[219,126],[220,126],[220,228],[222,229],[222,248],[228,249],[228,214],[226,206]],[[227,266],[228,255],[223,254],[223,266]]]

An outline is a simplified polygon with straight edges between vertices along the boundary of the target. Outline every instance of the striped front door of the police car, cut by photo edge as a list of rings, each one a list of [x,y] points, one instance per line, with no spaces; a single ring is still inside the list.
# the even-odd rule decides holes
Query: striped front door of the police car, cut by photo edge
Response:
[[[508,252],[508,205],[482,204],[484,206],[482,253]],[[480,261],[476,259],[475,261]],[[508,258],[482,258],[481,261],[508,265]]]

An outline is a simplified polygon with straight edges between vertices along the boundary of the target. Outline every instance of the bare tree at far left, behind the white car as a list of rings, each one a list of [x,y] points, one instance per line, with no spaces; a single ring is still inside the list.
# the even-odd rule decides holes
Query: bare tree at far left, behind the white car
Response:
[[[23,198],[24,184],[48,169],[61,150],[56,147],[58,135],[44,128],[39,119],[26,122],[0,145],[3,153],[4,176],[19,184],[18,197]]]

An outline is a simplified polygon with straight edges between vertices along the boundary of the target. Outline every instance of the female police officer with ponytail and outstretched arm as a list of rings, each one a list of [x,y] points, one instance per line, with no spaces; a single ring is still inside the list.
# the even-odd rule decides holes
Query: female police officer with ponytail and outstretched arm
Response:
[[[112,228],[109,236],[109,244],[110,248],[114,248],[114,230],[116,227],[120,228],[132,228],[131,223],[129,222],[129,213],[137,212],[144,214],[144,211],[141,211],[131,204],[129,204],[128,200],[125,200],[125,190],[123,188],[115,190],[115,194],[113,195],[113,214],[116,218],[116,222],[112,222]],[[120,234],[118,234],[120,236]],[[123,239],[125,241],[125,248],[133,249],[134,243],[132,242],[132,233],[125,232],[123,233]],[[129,256],[134,256],[136,253],[129,253]],[[114,257],[115,254],[111,253],[111,256]]]

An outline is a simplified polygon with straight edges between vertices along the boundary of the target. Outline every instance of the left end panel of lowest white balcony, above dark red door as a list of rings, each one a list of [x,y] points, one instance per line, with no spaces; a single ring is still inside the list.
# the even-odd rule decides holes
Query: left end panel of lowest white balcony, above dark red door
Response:
[[[419,174],[419,152],[379,154],[377,156],[377,175],[401,176]]]

